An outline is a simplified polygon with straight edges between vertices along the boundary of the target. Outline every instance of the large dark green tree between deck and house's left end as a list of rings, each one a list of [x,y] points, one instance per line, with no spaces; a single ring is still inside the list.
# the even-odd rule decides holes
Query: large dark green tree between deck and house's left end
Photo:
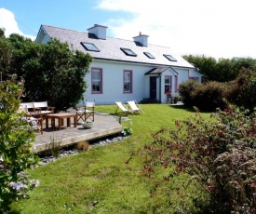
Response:
[[[11,74],[25,79],[25,101],[47,100],[60,111],[83,99],[92,61],[88,54],[72,51],[56,39],[43,45],[13,34],[9,40],[15,49]]]

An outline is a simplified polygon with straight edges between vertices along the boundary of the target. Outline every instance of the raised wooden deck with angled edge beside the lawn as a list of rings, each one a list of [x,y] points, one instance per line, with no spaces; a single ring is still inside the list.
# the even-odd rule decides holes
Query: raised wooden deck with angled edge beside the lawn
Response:
[[[84,128],[79,122],[77,127],[74,127],[73,121],[71,127],[66,127],[64,124],[61,130],[46,128],[46,124],[44,124],[43,134],[36,133],[35,135],[34,153],[48,150],[51,142],[67,146],[82,140],[100,139],[123,130],[123,127],[111,115],[96,114],[94,125],[89,129]]]

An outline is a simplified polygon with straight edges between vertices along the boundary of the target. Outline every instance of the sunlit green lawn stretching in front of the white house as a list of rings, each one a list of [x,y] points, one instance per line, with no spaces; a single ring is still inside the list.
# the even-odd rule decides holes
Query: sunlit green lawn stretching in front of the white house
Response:
[[[29,193],[29,200],[14,203],[13,212],[171,213],[172,207],[165,203],[167,198],[161,194],[150,196],[155,181],[141,175],[141,158],[135,157],[129,164],[126,161],[132,151],[151,141],[152,133],[161,127],[174,127],[174,120],[182,120],[194,111],[166,104],[141,107],[145,114],[128,115],[133,129],[128,140],[94,147],[31,170],[29,173],[40,181],[40,186]],[[102,105],[96,111],[115,114],[115,109],[115,105]],[[128,122],[123,126],[129,126]],[[176,195],[170,197],[178,200]]]

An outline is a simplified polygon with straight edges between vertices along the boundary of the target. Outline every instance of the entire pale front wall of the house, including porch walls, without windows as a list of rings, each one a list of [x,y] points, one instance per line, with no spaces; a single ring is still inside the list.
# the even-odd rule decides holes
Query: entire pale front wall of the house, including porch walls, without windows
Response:
[[[102,93],[91,93],[91,68],[100,68],[102,70]],[[89,66],[89,74],[86,74],[86,81],[88,83],[88,90],[84,94],[84,101],[95,100],[96,104],[115,104],[115,101],[122,101],[127,103],[128,100],[137,100],[140,102],[144,98],[150,97],[150,76],[145,75],[146,72],[155,68],[155,66],[145,66],[140,64],[131,64],[126,62],[113,62],[107,60],[95,60]],[[124,93],[123,91],[123,74],[124,70],[132,71],[132,92]],[[178,75],[178,89],[179,85],[188,80],[189,70],[186,68],[175,68],[175,72],[168,70],[160,74],[161,78],[156,79],[156,100],[161,103],[167,103],[167,94],[165,93],[165,75],[172,76],[172,96],[178,96],[179,91],[175,91],[175,75]],[[201,80],[198,73],[191,73]],[[158,75],[158,74],[153,74]],[[160,87],[161,82],[161,87]],[[81,101],[80,103],[82,103]]]

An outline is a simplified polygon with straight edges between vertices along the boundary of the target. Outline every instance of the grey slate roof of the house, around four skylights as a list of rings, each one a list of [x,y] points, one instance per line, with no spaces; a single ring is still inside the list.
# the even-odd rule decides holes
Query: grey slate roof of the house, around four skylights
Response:
[[[98,39],[94,34],[66,30],[58,27],[42,25],[50,38],[57,38],[61,42],[67,42],[70,47],[88,53],[95,60],[115,60],[126,61],[133,63],[151,64],[154,66],[172,66],[195,68],[192,64],[182,59],[181,56],[173,53],[169,47],[160,47],[148,44],[147,47],[142,47],[140,43],[133,40],[118,39],[106,37],[106,40]],[[40,31],[39,31],[40,33]],[[39,36],[37,35],[37,38]],[[36,41],[37,41],[36,38]],[[81,45],[81,42],[94,44],[100,49],[100,52],[88,51]],[[127,56],[120,48],[129,48],[137,54],[136,57]],[[151,53],[155,59],[149,59],[143,52]],[[168,60],[164,54],[171,55],[177,61]]]

